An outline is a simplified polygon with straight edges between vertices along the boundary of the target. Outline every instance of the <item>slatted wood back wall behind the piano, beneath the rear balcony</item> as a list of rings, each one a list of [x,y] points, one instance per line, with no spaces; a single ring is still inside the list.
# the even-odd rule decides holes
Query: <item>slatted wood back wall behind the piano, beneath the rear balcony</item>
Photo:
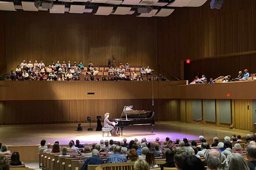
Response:
[[[96,122],[96,116],[104,117],[106,112],[110,119],[120,118],[125,105],[154,111],[155,121],[180,121],[178,99],[156,99],[154,106],[151,99],[30,100],[0,101],[0,125],[85,123],[87,116]]]

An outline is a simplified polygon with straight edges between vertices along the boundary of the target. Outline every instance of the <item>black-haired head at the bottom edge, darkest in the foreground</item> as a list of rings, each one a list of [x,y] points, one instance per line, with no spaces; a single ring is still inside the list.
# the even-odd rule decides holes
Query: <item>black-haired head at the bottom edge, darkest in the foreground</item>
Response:
[[[203,162],[196,156],[187,156],[183,162],[182,170],[205,170]]]

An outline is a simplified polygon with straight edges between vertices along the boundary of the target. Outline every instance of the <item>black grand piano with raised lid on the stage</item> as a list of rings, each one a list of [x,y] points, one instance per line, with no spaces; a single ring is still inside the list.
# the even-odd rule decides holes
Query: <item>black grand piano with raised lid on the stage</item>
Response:
[[[113,119],[117,124],[118,135],[123,135],[123,128],[131,125],[151,125],[151,135],[153,134],[153,126],[155,121],[153,119],[155,112],[145,110],[133,110],[133,106],[124,106],[120,119]],[[120,134],[121,131],[121,134]]]

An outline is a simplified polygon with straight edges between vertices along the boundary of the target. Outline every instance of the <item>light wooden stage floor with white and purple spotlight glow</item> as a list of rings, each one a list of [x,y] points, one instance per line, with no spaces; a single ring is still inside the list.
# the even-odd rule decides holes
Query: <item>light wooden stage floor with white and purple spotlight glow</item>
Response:
[[[92,124],[94,130],[96,126],[96,123]],[[153,135],[150,135],[150,125],[130,126],[124,128],[122,137],[107,137],[107,133],[105,133],[105,137],[102,137],[101,131],[87,131],[89,124],[82,124],[82,127],[83,131],[76,131],[77,124],[0,126],[0,142],[16,146],[40,144],[42,139],[45,139],[47,143],[59,141],[60,144],[68,144],[70,140],[75,141],[76,139],[80,140],[80,143],[99,143],[101,139],[122,140],[124,137],[127,141],[134,140],[134,138],[141,140],[143,137],[147,141],[154,141],[156,137],[159,137],[160,141],[163,141],[166,136],[169,136],[171,140],[175,140],[177,137],[180,139],[187,137],[189,140],[192,140],[198,139],[200,135],[212,139],[214,136],[223,138],[232,134],[246,136],[247,133],[252,133],[246,130],[183,123],[180,121],[155,122]]]

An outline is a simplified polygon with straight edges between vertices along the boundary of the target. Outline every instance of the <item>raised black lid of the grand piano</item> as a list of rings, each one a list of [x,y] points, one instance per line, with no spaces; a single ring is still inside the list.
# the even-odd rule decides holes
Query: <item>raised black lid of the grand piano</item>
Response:
[[[133,110],[133,106],[124,106],[120,119],[136,119],[136,118],[151,118],[154,112],[145,110]]]

